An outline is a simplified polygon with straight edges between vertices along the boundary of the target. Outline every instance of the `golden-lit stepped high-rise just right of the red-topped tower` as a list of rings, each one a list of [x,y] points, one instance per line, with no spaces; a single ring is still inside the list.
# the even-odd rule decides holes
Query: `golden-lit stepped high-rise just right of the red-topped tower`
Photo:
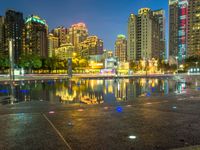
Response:
[[[103,41],[97,36],[88,36],[85,41],[79,44],[78,49],[82,56],[102,55]]]

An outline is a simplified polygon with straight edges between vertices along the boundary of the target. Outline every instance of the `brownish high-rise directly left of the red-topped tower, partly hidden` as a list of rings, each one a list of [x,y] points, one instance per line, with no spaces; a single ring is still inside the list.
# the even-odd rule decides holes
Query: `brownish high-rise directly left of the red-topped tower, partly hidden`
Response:
[[[52,34],[59,39],[59,46],[67,43],[67,29],[63,26],[57,27],[52,30]]]

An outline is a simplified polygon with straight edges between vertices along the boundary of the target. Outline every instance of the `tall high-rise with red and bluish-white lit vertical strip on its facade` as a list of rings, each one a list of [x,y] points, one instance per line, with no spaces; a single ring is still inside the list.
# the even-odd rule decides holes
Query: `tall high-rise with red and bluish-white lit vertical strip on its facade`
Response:
[[[169,55],[183,63],[187,57],[188,0],[169,0]]]

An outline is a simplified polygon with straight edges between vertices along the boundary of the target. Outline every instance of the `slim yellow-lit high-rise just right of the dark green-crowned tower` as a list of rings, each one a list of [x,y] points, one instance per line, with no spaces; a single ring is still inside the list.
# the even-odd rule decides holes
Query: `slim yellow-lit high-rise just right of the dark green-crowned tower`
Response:
[[[48,35],[48,56],[55,56],[55,49],[59,47],[59,38],[52,33]]]

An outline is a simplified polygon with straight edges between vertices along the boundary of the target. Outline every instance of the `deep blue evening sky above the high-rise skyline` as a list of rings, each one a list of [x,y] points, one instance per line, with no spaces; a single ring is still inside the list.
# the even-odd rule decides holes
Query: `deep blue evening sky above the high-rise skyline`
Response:
[[[49,29],[84,22],[90,35],[99,36],[104,47],[113,50],[117,35],[127,34],[129,14],[137,14],[142,7],[165,9],[168,22],[168,0],[0,0],[0,15],[6,9],[23,12],[24,17],[36,14]]]

